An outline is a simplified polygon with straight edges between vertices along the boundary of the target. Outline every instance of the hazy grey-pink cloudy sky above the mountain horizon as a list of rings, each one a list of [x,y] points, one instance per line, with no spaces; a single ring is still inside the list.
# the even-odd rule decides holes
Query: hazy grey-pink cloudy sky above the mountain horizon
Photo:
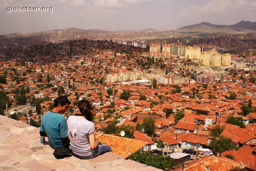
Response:
[[[11,11],[7,7],[53,7]],[[170,30],[255,21],[255,0],[0,0],[0,35],[53,29]]]

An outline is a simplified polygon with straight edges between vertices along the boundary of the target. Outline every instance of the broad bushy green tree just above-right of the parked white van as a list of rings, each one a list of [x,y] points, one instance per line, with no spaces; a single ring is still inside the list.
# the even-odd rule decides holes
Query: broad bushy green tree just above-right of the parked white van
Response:
[[[238,150],[239,147],[235,146],[235,144],[232,143],[232,140],[230,138],[225,138],[221,136],[219,139],[214,139],[210,143],[210,147],[213,151],[217,151],[219,153],[223,153],[227,150]]]

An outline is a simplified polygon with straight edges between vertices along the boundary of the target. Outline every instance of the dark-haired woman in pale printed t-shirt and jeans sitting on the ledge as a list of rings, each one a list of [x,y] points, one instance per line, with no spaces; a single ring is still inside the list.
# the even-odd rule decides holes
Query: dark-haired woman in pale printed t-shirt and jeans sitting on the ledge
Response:
[[[106,152],[112,152],[110,146],[102,145],[95,140],[94,123],[92,113],[93,107],[87,100],[81,100],[77,105],[77,113],[69,116],[68,137],[71,150],[75,157],[89,159],[97,157]]]

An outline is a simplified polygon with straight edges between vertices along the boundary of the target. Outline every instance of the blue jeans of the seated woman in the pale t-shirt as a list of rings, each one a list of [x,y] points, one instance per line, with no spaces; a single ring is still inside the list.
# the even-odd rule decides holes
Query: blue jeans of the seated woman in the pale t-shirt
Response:
[[[80,159],[90,159],[90,158],[95,158],[101,154],[104,154],[106,152],[112,152],[111,150],[111,147],[109,145],[102,145],[102,143],[100,141],[99,142],[99,146],[94,149],[94,152],[93,154],[91,154],[90,156],[79,156],[75,153],[73,153],[73,155],[77,158],[80,158]]]

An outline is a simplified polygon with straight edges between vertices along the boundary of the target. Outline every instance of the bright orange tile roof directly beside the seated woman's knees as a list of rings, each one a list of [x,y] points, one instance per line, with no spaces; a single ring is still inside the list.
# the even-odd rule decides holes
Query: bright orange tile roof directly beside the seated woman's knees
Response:
[[[124,158],[129,157],[130,155],[144,147],[146,144],[148,144],[147,142],[144,141],[118,137],[108,134],[98,134],[96,135],[96,139],[100,141],[102,144],[109,145],[113,153],[119,154]],[[129,154],[126,153],[127,147],[129,149]]]

